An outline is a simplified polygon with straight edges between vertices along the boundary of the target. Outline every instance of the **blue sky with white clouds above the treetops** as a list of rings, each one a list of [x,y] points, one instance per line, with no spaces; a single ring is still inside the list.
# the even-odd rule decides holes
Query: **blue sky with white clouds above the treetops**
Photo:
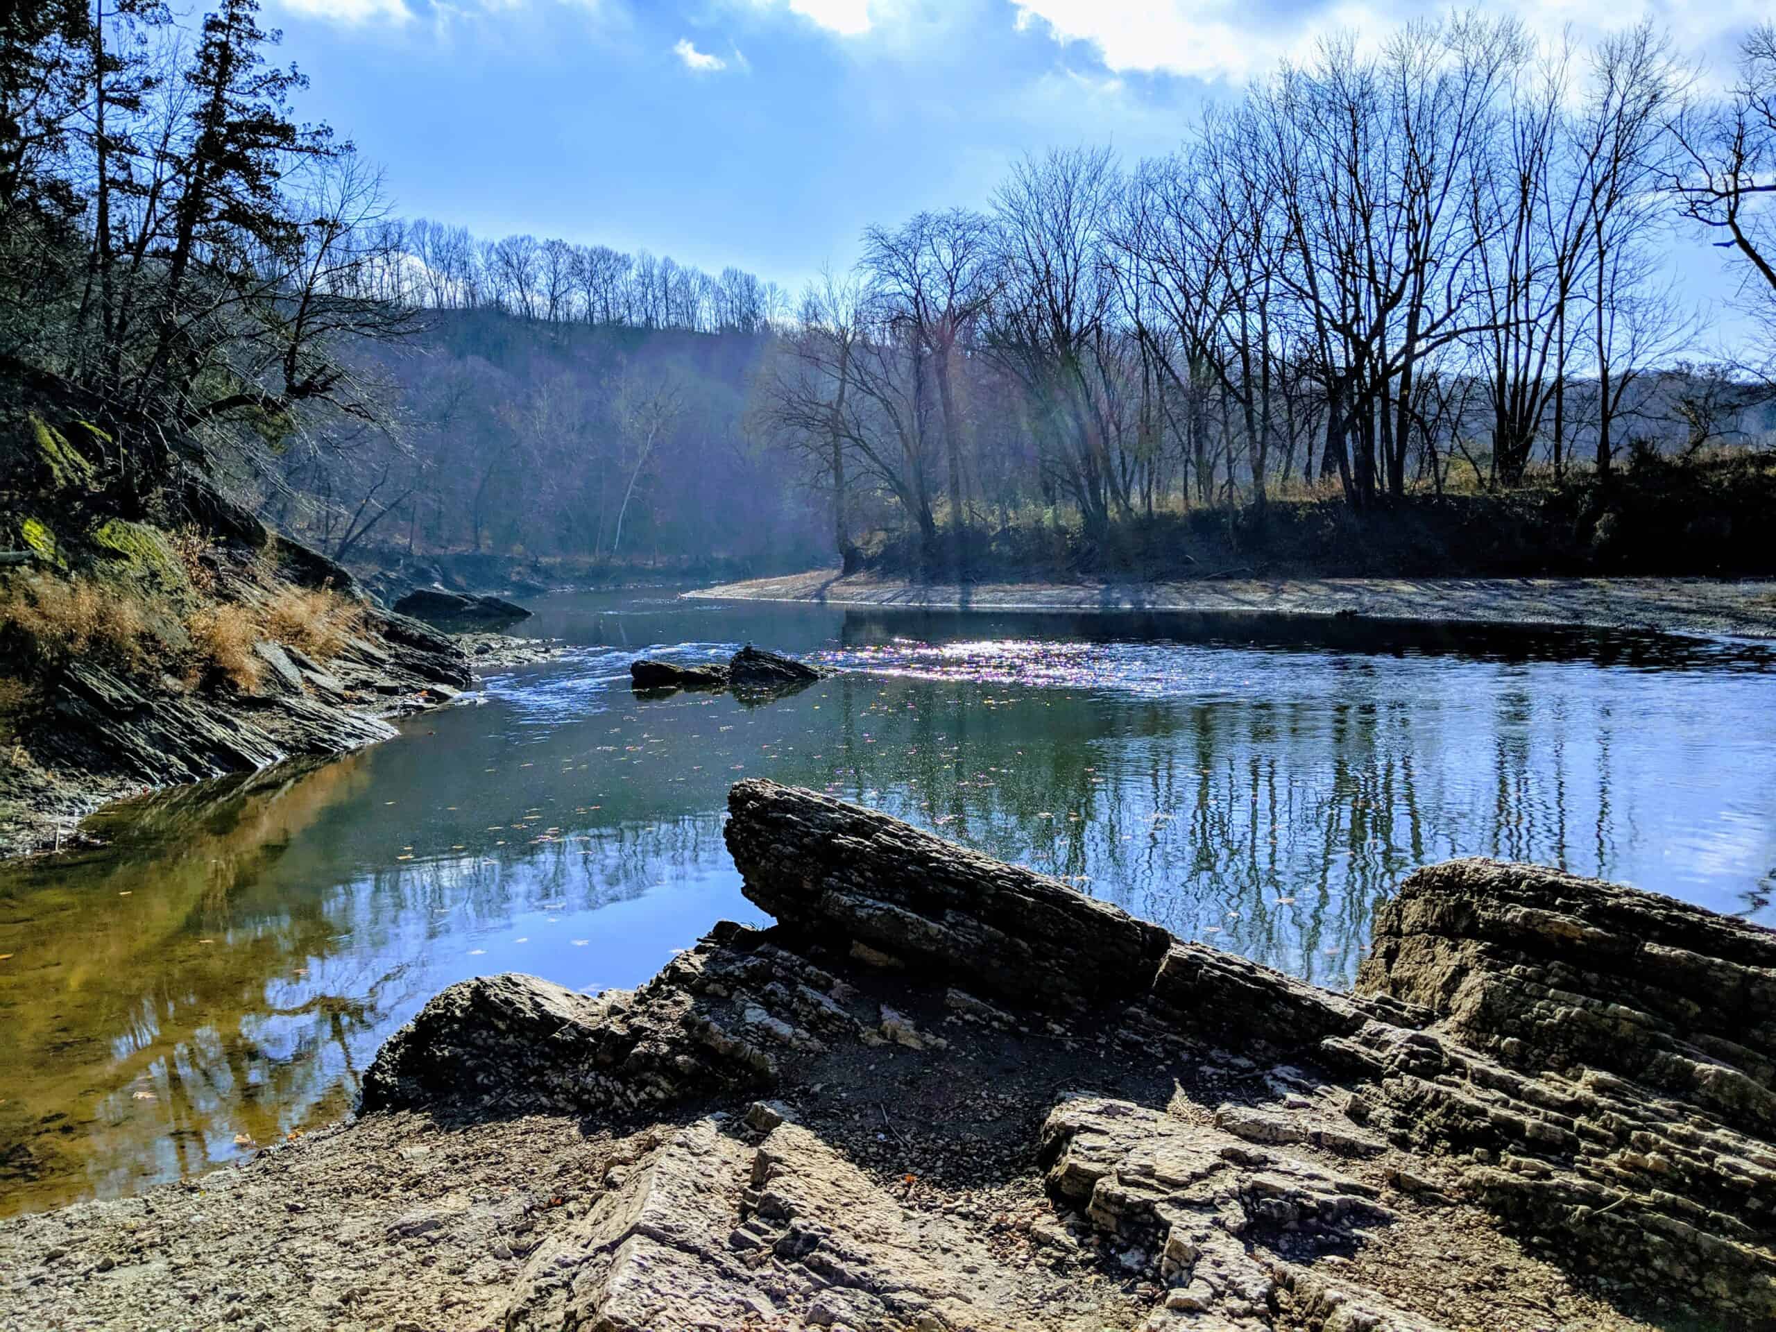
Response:
[[[1579,36],[1636,0],[1494,0]],[[327,119],[396,206],[787,286],[858,233],[984,204],[1050,144],[1172,147],[1204,98],[1328,30],[1385,32],[1419,0],[265,0]],[[1721,57],[1764,0],[1652,12]]]

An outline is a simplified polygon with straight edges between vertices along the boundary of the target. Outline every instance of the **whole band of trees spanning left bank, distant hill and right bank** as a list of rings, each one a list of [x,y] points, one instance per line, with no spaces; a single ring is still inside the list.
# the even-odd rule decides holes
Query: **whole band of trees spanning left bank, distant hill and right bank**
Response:
[[[932,561],[1032,510],[1094,536],[1607,478],[1655,430],[1730,437],[1769,378],[1749,336],[1678,361],[1707,320],[1668,261],[1717,247],[1776,332],[1772,27],[1721,83],[1652,25],[1334,39],[1170,155],[1053,149],[984,210],[870,227],[794,304],[396,218],[275,39],[256,0],[195,39],[158,0],[0,23],[0,373],[85,405],[107,504],[199,474],[334,554],[790,558],[819,520],[847,561],[876,527]]]

